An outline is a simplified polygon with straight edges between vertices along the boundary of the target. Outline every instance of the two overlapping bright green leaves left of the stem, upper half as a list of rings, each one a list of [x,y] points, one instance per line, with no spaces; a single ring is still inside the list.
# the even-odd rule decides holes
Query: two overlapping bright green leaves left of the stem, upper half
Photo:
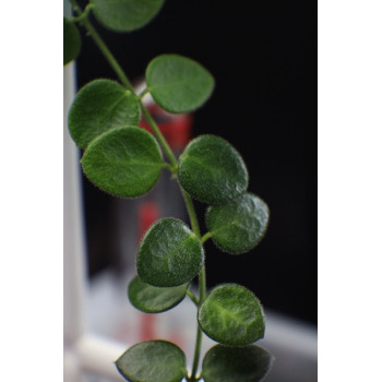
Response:
[[[136,127],[134,94],[110,80],[81,88],[69,111],[69,131],[87,178],[103,191],[124,198],[148,192],[159,178],[163,157],[156,140]]]

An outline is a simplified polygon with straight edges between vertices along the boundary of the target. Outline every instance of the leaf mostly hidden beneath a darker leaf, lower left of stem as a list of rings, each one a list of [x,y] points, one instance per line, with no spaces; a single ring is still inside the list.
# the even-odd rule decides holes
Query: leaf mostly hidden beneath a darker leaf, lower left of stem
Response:
[[[189,283],[177,287],[159,288],[143,283],[135,276],[129,285],[130,302],[146,313],[159,313],[177,306],[186,296]]]

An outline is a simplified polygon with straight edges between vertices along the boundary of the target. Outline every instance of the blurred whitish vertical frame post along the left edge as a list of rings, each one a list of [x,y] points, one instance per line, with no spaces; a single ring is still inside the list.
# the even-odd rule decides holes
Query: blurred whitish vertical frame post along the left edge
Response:
[[[74,97],[73,63],[64,67],[63,81],[63,338],[64,345],[73,345],[85,330],[86,288],[79,150],[67,126]]]

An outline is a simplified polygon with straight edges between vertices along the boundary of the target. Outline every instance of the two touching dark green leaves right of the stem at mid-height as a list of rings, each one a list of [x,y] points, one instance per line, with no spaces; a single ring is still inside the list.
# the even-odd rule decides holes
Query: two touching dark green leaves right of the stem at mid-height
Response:
[[[260,198],[246,192],[246,164],[227,141],[215,135],[194,139],[180,156],[178,179],[192,198],[212,204],[206,226],[220,250],[244,253],[261,241],[270,211]]]

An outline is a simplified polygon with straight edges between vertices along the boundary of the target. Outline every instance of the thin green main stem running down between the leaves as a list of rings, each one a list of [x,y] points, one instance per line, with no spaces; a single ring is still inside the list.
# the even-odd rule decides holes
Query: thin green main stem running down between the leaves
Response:
[[[81,16],[81,19],[82,19],[82,15],[83,15],[83,19],[81,20],[81,23],[85,26],[85,28],[87,29],[87,32],[89,33],[89,35],[92,36],[92,38],[94,39],[96,45],[98,46],[99,50],[104,53],[106,60],[111,65],[111,68],[114,69],[114,71],[116,72],[118,77],[120,79],[121,83],[129,91],[131,91],[133,94],[135,94],[135,91],[134,91],[133,86],[131,85],[128,76],[124,74],[123,69],[118,63],[118,61],[112,56],[112,53],[109,50],[109,48],[106,46],[104,40],[100,38],[100,36],[98,35],[96,29],[93,27],[92,23],[89,22],[89,20],[88,20],[88,13],[89,12],[87,11],[87,12],[83,13],[81,8],[80,8],[80,5],[77,4],[77,2],[75,0],[70,0],[70,2],[72,4],[73,9],[75,10],[75,12]],[[159,128],[155,123],[154,119],[152,118],[152,116],[150,115],[147,109],[144,107],[144,105],[143,105],[141,99],[140,99],[140,105],[141,105],[142,112],[143,112],[147,123],[153,129],[154,134],[158,139],[159,143],[162,144],[162,147],[164,148],[165,153],[167,154],[169,160],[172,164],[171,172],[176,174],[177,168],[178,168],[178,160],[177,160],[177,158],[175,157],[175,155],[174,155],[170,146],[168,145],[166,139],[163,136]],[[195,213],[195,208],[194,208],[192,199],[182,189],[182,187],[180,184],[179,184],[179,187],[180,187],[181,192],[183,194],[186,207],[187,207],[187,211],[188,211],[188,214],[189,214],[189,217],[190,217],[190,222],[191,222],[191,228],[192,228],[193,232],[195,234],[195,236],[198,237],[198,239],[201,240],[201,232],[200,232],[198,217],[196,217],[196,213]],[[204,238],[205,238],[205,235],[204,235]],[[206,278],[206,276],[205,276],[205,266],[203,266],[201,272],[200,272],[200,274],[199,274],[199,301],[193,295],[192,296],[195,298],[195,301],[191,298],[194,302],[198,301],[198,303],[196,303],[198,306],[200,306],[203,302],[204,298],[205,298],[205,294],[206,294],[206,280],[205,280],[205,278]],[[195,350],[194,350],[194,358],[193,358],[193,365],[192,365],[192,372],[191,372],[190,381],[198,381],[199,380],[199,378],[196,378],[196,372],[198,372],[200,353],[201,353],[201,347],[202,347],[202,335],[203,335],[202,330],[198,325],[196,343],[195,343]]]

